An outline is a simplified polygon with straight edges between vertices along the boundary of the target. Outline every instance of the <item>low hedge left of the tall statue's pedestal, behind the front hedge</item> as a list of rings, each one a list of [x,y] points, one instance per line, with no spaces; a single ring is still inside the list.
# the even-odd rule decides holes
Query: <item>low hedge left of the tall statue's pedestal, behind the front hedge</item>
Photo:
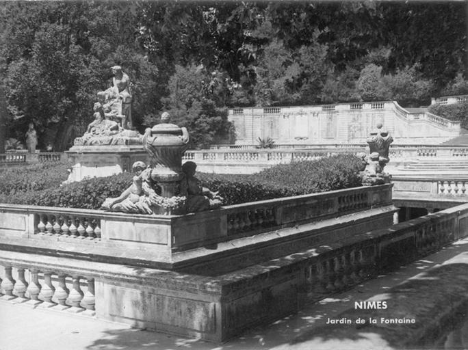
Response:
[[[40,191],[59,187],[68,178],[68,161],[45,161],[43,163],[11,167],[0,170],[0,193],[16,195],[25,191]]]

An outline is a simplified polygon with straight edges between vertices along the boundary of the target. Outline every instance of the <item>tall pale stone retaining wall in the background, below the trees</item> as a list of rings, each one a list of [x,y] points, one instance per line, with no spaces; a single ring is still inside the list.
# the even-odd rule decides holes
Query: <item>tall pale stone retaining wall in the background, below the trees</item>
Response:
[[[237,108],[229,111],[236,144],[271,137],[283,144],[361,143],[381,122],[399,143],[441,143],[460,132],[458,122],[430,113],[409,113],[396,102]]]

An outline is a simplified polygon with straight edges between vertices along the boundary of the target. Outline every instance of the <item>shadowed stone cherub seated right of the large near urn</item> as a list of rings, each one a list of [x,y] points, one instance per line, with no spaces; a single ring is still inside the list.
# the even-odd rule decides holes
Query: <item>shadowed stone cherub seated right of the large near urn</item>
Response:
[[[194,176],[196,163],[187,161],[182,165],[182,172],[185,176],[181,180],[180,191],[181,196],[187,197],[185,204],[188,212],[205,211],[221,206],[223,198],[218,192],[202,187],[198,178]]]

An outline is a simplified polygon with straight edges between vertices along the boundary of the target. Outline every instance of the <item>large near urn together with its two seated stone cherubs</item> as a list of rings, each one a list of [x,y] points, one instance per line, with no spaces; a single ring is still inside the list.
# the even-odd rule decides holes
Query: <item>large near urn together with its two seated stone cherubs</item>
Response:
[[[217,192],[202,187],[194,176],[196,164],[182,166],[182,155],[188,148],[187,129],[170,123],[163,113],[161,124],[146,129],[142,144],[151,165],[133,164],[133,183],[118,198],[107,198],[103,208],[110,211],[139,214],[183,214],[217,208],[222,198]]]

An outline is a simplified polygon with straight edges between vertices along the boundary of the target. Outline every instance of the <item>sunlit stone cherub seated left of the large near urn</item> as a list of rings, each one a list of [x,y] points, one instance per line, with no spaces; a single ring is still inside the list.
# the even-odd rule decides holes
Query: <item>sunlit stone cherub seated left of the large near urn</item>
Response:
[[[153,213],[145,201],[141,200],[141,196],[144,195],[142,183],[145,169],[144,162],[133,163],[132,170],[136,174],[133,176],[133,183],[117,198],[107,198],[101,207],[109,211],[122,211],[124,213]]]

